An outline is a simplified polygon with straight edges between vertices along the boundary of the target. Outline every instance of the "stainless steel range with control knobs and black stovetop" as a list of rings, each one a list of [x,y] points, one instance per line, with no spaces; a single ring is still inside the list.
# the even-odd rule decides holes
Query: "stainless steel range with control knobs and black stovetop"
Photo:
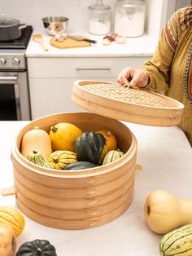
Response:
[[[0,121],[31,120],[25,51],[32,28],[26,29],[21,38],[0,42]]]

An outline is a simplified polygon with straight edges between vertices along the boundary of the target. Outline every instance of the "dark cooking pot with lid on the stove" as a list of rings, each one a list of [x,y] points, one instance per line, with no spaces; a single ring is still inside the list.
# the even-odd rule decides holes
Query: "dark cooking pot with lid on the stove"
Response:
[[[21,37],[21,29],[25,29],[26,24],[20,24],[20,20],[8,18],[0,14],[0,41],[12,41]]]

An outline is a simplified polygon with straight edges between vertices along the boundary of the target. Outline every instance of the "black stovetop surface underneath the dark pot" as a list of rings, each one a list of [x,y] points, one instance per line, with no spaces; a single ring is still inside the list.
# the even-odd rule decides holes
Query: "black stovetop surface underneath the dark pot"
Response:
[[[27,26],[21,30],[21,37],[13,41],[0,42],[0,49],[26,49],[33,33],[33,27]]]

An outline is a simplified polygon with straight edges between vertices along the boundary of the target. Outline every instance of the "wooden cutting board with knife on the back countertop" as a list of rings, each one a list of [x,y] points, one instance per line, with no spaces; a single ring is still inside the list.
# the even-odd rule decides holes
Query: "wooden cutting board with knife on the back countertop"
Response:
[[[85,37],[78,35],[78,38],[85,38]],[[50,38],[50,45],[60,49],[64,49],[64,48],[91,46],[91,43],[85,42],[85,41],[76,41],[76,40],[73,40],[72,38],[65,38],[63,42],[59,42],[59,41],[56,41],[55,38],[53,37],[53,38]]]

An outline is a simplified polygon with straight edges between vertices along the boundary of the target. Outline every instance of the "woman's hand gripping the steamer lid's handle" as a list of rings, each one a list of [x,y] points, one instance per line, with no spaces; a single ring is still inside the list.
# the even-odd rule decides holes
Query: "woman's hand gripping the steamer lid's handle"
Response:
[[[149,83],[149,75],[141,69],[127,67],[120,72],[117,82],[121,85],[145,87]]]

